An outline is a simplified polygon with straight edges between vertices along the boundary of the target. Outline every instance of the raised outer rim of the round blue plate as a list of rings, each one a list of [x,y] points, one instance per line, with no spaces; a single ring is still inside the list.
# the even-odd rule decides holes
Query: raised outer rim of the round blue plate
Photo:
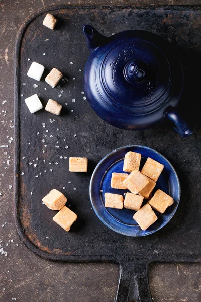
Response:
[[[94,206],[93,204],[93,201],[92,201],[92,188],[93,188],[93,182],[94,182],[94,177],[95,177],[95,173],[96,171],[98,170],[98,168],[100,167],[100,165],[102,165],[102,163],[108,158],[110,157],[112,154],[118,152],[119,150],[122,150],[122,149],[125,149],[125,148],[143,148],[143,149],[147,149],[147,150],[150,150],[151,152],[154,152],[156,154],[158,154],[160,157],[162,157],[171,167],[175,177],[176,177],[176,180],[177,180],[177,187],[178,187],[178,199],[177,199],[177,205],[175,207],[175,209],[173,210],[173,212],[169,215],[168,219],[165,221],[165,224],[162,224],[160,225],[159,228],[157,228],[156,230],[153,230],[153,231],[150,231],[150,233],[148,234],[140,234],[140,235],[135,235],[135,234],[128,234],[124,231],[120,231],[120,230],[117,230],[116,228],[113,228],[112,225],[110,225],[107,221],[105,221],[103,219],[103,217],[101,215],[99,215],[99,213],[97,212],[96,210],[96,207]],[[165,226],[171,219],[172,217],[174,216],[174,214],[176,213],[177,211],[177,208],[178,208],[178,205],[179,205],[179,201],[180,201],[180,197],[181,197],[181,185],[180,185],[180,181],[179,181],[179,178],[178,178],[178,175],[176,173],[176,170],[174,169],[174,167],[172,166],[172,164],[166,159],[166,157],[164,157],[161,153],[159,153],[158,151],[150,148],[150,147],[147,147],[147,146],[143,146],[143,145],[126,145],[126,146],[123,146],[123,147],[120,147],[120,148],[116,148],[114,150],[112,150],[110,153],[108,153],[105,157],[103,157],[97,164],[97,166],[95,167],[93,173],[92,173],[92,176],[91,176],[91,179],[90,179],[90,184],[89,184],[89,197],[90,197],[90,202],[91,202],[91,206],[95,212],[95,214],[97,215],[97,217],[100,219],[100,221],[102,221],[106,226],[108,226],[109,229],[111,229],[112,231],[116,232],[116,233],[119,233],[119,234],[122,234],[122,235],[125,235],[125,236],[129,236],[129,237],[143,237],[143,236],[148,236],[148,235],[151,235],[155,232],[157,232],[158,230],[162,229],[163,226]]]

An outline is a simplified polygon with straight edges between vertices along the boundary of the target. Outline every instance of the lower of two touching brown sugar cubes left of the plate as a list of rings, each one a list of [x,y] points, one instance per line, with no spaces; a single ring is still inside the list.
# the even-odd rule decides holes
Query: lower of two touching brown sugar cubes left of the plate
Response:
[[[77,219],[77,215],[64,205],[62,209],[52,218],[54,222],[59,224],[65,231],[70,230],[70,226]]]

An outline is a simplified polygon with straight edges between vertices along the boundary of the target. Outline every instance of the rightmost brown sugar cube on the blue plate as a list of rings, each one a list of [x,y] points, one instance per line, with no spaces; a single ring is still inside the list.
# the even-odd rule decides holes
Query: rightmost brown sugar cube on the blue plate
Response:
[[[162,190],[157,190],[154,196],[149,200],[149,204],[159,213],[163,214],[168,206],[172,205],[174,202],[173,198],[167,195]]]

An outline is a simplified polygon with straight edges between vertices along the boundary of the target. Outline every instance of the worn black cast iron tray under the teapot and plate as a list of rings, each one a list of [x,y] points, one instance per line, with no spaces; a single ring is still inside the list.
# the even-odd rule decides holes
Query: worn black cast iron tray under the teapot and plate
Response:
[[[53,31],[42,25],[47,12],[59,20]],[[167,124],[145,131],[120,130],[96,116],[81,94],[83,69],[89,56],[82,33],[85,24],[105,35],[128,29],[150,30],[178,48],[186,79],[181,106],[194,127],[191,137],[181,138]],[[196,99],[200,86],[200,77],[196,76],[200,70],[200,25],[199,7],[55,6],[35,13],[20,28],[15,54],[14,208],[18,234],[30,250],[50,260],[118,263],[118,302],[151,300],[147,278],[150,262],[200,261],[197,197],[201,135],[200,102]],[[32,61],[46,68],[40,82],[26,75]],[[52,89],[44,81],[53,67],[69,80],[61,81],[60,88]],[[33,87],[35,83],[37,88]],[[62,115],[54,116],[44,109],[31,114],[24,99],[34,93],[43,105],[49,98],[59,101],[64,107]],[[89,201],[89,181],[95,164],[111,150],[129,144],[158,150],[173,164],[181,182],[182,196],[174,217],[162,230],[143,238],[126,237],[108,229],[96,217]],[[89,172],[70,173],[70,156],[88,157]],[[68,206],[78,215],[69,233],[52,220],[55,211],[42,205],[41,199],[52,188],[67,196]]]

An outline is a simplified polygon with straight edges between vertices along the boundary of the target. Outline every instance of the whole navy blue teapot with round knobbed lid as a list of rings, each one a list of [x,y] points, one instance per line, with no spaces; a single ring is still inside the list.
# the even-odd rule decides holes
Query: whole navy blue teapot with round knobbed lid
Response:
[[[85,25],[83,32],[91,52],[84,70],[84,89],[100,118],[130,130],[169,119],[181,136],[192,134],[176,110],[183,69],[166,40],[142,30],[105,37]]]

